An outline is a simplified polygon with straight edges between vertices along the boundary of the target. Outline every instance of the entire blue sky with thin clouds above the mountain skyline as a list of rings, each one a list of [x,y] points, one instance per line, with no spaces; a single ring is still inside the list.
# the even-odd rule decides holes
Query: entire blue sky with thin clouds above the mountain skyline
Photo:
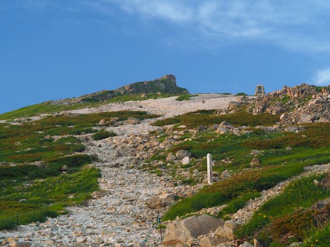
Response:
[[[0,0],[0,113],[174,74],[190,92],[330,84],[330,1]]]

